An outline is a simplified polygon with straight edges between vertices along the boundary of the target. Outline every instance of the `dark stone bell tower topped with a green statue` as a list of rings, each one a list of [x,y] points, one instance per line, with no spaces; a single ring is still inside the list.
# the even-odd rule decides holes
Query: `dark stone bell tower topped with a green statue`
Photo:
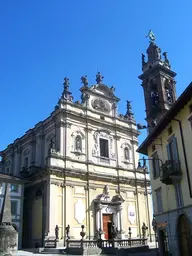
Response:
[[[171,70],[171,65],[164,52],[155,43],[155,36],[150,30],[149,47],[145,55],[142,54],[142,71],[139,76],[144,90],[146,121],[149,132],[159,122],[161,117],[171,108],[176,101],[175,79],[176,73]]]

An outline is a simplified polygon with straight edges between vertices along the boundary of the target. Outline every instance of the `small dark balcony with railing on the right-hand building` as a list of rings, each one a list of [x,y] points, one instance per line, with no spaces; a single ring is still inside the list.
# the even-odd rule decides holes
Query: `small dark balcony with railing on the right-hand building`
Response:
[[[166,185],[177,183],[182,178],[179,161],[167,160],[160,168],[160,180]]]

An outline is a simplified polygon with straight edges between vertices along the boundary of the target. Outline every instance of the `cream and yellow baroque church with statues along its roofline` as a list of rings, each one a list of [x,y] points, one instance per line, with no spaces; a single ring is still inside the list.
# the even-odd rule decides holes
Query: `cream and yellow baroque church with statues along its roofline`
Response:
[[[152,207],[149,173],[138,165],[136,121],[131,103],[118,113],[115,88],[81,77],[81,100],[74,102],[68,78],[50,116],[1,151],[1,172],[25,183],[24,248],[43,245],[45,236],[61,243],[70,238],[110,239],[115,225],[118,238],[142,236],[142,224],[151,238]]]

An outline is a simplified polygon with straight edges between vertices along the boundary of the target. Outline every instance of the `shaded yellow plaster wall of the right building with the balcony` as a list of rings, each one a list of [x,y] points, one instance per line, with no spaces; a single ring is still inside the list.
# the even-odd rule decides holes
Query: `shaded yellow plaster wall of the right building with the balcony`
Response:
[[[185,148],[187,153],[187,160],[188,160],[188,166],[189,170],[192,170],[192,161],[191,161],[191,152],[192,152],[192,129],[190,126],[190,123],[188,119],[192,114],[189,112],[189,105],[192,104],[192,100],[188,102],[188,104],[178,113],[178,115],[175,117],[175,119],[179,119],[182,122],[182,129],[183,129],[183,135],[184,135],[184,142],[185,142]],[[168,135],[168,128],[172,126],[173,133],[171,135]],[[178,154],[179,154],[179,160],[181,163],[181,170],[182,170],[182,180],[181,180],[181,187],[182,187],[182,194],[183,194],[183,202],[184,206],[187,206],[191,204],[191,199],[189,197],[189,189],[188,189],[188,183],[187,183],[187,175],[186,175],[186,168],[185,168],[185,162],[184,162],[184,154],[183,154],[183,146],[181,142],[181,134],[179,129],[179,123],[177,121],[172,120],[170,124],[162,131],[161,134],[158,135],[158,138],[161,138],[161,140],[156,139],[153,141],[153,143],[148,148],[148,156],[152,157],[152,155],[157,152],[158,157],[162,159],[163,162],[165,162],[167,157],[167,148],[166,145],[168,144],[168,139],[175,135],[177,138],[177,146],[178,146]],[[161,144],[157,145],[156,150],[152,152],[152,145],[154,144]],[[150,170],[152,170],[152,162],[150,162]],[[152,175],[152,173],[151,173]],[[190,171],[190,180],[192,184],[192,173]],[[152,190],[153,190],[153,203],[154,203],[154,211],[157,212],[157,202],[156,202],[156,195],[154,190],[161,188],[162,189],[162,201],[163,201],[163,211],[169,211],[176,209],[176,198],[175,198],[175,190],[173,185],[165,185],[160,181],[160,178],[157,178],[156,180],[153,180],[153,177],[151,176],[151,182],[152,182]]]

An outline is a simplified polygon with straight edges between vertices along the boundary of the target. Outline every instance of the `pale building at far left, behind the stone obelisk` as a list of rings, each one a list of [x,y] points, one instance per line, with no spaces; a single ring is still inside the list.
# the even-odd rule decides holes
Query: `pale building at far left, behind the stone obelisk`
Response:
[[[12,222],[18,232],[18,247],[20,249],[22,247],[24,181],[0,173],[0,212],[2,210],[6,184],[9,185],[10,189]]]

